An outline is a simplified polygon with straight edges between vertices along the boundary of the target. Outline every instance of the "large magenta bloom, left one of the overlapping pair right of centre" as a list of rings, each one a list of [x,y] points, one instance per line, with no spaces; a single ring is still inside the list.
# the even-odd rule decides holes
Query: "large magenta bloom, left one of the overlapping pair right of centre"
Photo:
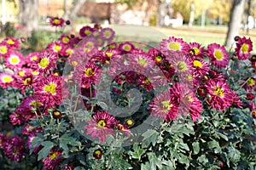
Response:
[[[149,104],[151,116],[161,117],[166,119],[166,122],[177,118],[177,100],[172,98],[169,93],[163,93],[154,98],[154,101]]]

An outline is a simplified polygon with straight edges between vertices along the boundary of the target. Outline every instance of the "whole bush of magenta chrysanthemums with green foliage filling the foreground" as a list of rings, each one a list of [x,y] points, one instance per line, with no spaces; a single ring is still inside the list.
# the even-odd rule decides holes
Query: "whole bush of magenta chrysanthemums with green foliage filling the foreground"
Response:
[[[52,18],[62,31],[70,21]],[[3,169],[253,169],[253,43],[117,42],[84,26],[42,51],[0,42]]]

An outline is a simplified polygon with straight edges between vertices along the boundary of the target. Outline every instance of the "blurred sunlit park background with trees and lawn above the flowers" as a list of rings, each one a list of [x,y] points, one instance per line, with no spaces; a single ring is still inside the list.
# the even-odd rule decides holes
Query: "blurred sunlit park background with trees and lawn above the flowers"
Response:
[[[229,48],[238,35],[255,43],[255,9],[256,0],[0,0],[1,37],[52,31],[49,18],[57,16],[71,21],[71,32],[93,23],[152,26],[186,42]]]

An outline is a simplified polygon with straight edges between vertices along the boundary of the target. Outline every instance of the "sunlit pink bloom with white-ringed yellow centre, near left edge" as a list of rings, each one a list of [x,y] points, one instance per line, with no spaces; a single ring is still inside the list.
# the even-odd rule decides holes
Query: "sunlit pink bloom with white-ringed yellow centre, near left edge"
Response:
[[[10,51],[9,55],[5,58],[4,65],[9,67],[10,69],[17,69],[21,65],[23,65],[23,56],[19,52]]]

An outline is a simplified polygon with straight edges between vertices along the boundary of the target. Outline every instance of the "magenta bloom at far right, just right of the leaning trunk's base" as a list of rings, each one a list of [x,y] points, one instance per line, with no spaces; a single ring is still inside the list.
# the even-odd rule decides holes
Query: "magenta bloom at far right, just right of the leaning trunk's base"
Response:
[[[253,42],[251,38],[239,37],[238,42],[236,42],[236,55],[238,59],[248,59],[253,50]]]

